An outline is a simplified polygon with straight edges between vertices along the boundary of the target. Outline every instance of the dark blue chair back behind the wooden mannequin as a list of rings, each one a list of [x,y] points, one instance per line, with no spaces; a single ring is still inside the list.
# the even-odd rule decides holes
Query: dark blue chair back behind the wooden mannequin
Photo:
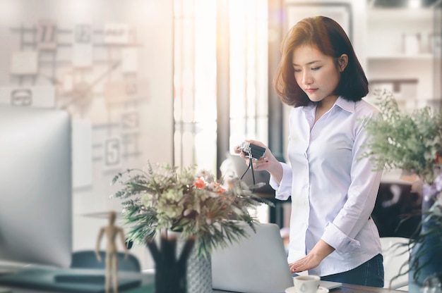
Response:
[[[132,272],[140,272],[141,265],[138,258],[133,254],[129,254],[128,258],[124,258],[124,252],[118,252],[118,270],[126,270]],[[71,268],[91,268],[97,270],[105,269],[105,258],[106,252],[100,251],[102,261],[97,260],[95,256],[95,251],[93,250],[83,250],[74,251],[71,258]]]

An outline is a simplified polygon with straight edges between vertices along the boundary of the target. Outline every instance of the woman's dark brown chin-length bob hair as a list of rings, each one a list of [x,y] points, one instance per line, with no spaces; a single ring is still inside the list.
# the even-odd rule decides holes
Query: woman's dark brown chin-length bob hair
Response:
[[[300,20],[282,40],[282,56],[274,79],[275,90],[282,102],[295,107],[310,103],[309,97],[294,79],[292,64],[294,50],[306,44],[333,58],[347,54],[348,64],[341,73],[335,94],[349,101],[359,101],[369,93],[369,82],[345,31],[335,20],[315,16]],[[338,66],[337,63],[335,65]]]

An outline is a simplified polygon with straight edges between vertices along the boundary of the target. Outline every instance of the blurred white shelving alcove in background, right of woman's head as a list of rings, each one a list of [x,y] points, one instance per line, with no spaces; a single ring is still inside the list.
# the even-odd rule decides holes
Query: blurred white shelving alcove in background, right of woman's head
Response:
[[[436,106],[432,8],[371,8],[367,11],[366,74],[371,89],[393,92],[403,111]]]

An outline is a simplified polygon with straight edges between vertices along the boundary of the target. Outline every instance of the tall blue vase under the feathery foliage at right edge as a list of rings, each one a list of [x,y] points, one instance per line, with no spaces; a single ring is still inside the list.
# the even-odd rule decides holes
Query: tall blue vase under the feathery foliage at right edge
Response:
[[[426,278],[434,273],[442,273],[441,242],[442,232],[428,234],[430,230],[440,229],[431,220],[424,220],[426,212],[433,206],[436,196],[441,190],[435,185],[424,185],[422,192],[422,227],[419,238],[423,241],[415,242],[410,251],[410,271],[408,274],[410,292],[420,292]]]

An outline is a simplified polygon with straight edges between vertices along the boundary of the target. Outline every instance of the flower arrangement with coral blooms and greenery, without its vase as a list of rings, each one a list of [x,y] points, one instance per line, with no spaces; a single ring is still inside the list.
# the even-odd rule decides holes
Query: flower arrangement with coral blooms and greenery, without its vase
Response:
[[[238,221],[254,230],[256,218],[249,213],[261,203],[273,205],[253,193],[239,178],[217,182],[207,170],[148,164],[147,170],[129,169],[117,174],[112,185],[123,186],[114,194],[124,199],[123,218],[130,226],[129,239],[145,243],[166,230],[194,237],[198,255],[207,256],[217,246],[247,237]],[[263,183],[262,183],[263,184]]]

